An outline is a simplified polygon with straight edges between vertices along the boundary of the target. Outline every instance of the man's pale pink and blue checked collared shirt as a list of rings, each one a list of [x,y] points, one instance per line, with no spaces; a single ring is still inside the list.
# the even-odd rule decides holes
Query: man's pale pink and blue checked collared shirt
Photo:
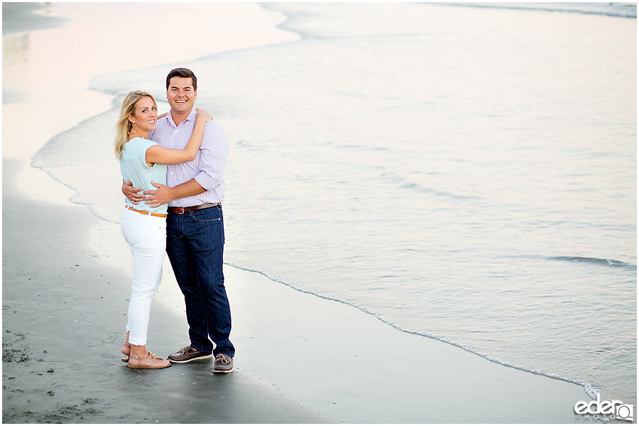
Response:
[[[149,138],[171,149],[184,149],[191,137],[195,126],[195,108],[191,110],[185,121],[179,125],[173,121],[169,113],[155,122],[155,130],[149,133]],[[202,145],[197,151],[195,160],[180,164],[167,165],[166,185],[175,187],[195,178],[206,192],[190,197],[178,198],[168,203],[170,207],[192,207],[206,203],[222,202],[224,200],[224,170],[226,157],[229,155],[229,142],[222,128],[214,121],[204,125]]]

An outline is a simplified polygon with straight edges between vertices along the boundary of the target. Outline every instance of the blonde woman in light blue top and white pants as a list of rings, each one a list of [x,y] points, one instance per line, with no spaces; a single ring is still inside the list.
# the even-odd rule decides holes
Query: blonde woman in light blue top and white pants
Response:
[[[163,148],[148,140],[148,133],[155,129],[155,120],[158,119],[153,96],[141,91],[126,95],[116,124],[115,141],[115,153],[124,182],[131,180],[134,187],[155,190],[151,182],[166,185],[167,164],[193,160],[202,143],[204,124],[213,118],[206,111],[197,111],[187,146],[183,150]],[[146,332],[151,300],[162,280],[167,206],[134,205],[128,198],[125,203],[120,228],[133,254],[133,283],[126,342],[122,346],[122,353],[127,357],[122,361],[128,361],[131,368],[165,368],[170,366],[170,361],[146,350]]]

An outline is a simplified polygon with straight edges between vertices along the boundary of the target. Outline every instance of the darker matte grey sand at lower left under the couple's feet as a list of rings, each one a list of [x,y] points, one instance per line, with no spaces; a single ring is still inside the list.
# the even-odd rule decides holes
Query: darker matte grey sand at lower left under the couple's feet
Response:
[[[2,169],[3,422],[326,421],[241,367],[224,376],[211,373],[210,360],[128,368],[119,350],[130,277],[89,248],[99,219],[86,208],[16,191],[11,176],[19,163],[4,160]],[[151,324],[148,347],[160,356],[187,339],[185,317],[160,303]]]

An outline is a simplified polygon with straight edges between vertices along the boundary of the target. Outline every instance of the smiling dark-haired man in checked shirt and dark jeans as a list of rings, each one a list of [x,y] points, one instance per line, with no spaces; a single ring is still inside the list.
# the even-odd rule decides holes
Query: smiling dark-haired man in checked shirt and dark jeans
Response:
[[[165,148],[186,146],[193,126],[197,78],[187,68],[176,68],[166,77],[169,113],[158,119],[150,138]],[[208,121],[195,160],[167,166],[167,185],[143,192],[130,182],[122,192],[133,202],[151,207],[169,203],[166,220],[166,252],[184,295],[190,345],[168,359],[186,363],[215,356],[213,372],[233,371],[235,348],[229,340],[231,310],[224,288],[224,170],[229,143],[224,131]],[[210,340],[209,340],[210,337]],[[211,340],[214,342],[215,347]]]

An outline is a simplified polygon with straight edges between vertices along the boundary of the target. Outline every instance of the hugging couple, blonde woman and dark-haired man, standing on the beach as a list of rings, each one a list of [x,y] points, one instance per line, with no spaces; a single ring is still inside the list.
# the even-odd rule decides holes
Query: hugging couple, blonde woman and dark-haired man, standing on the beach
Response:
[[[214,356],[213,372],[230,373],[235,348],[222,272],[229,143],[213,117],[194,107],[197,78],[191,70],[168,73],[166,99],[170,111],[158,116],[153,96],[133,91],[116,124],[115,153],[126,196],[120,227],[133,254],[122,361],[131,368],[165,368]],[[146,349],[165,251],[184,295],[190,337],[190,344],[168,360]]]

